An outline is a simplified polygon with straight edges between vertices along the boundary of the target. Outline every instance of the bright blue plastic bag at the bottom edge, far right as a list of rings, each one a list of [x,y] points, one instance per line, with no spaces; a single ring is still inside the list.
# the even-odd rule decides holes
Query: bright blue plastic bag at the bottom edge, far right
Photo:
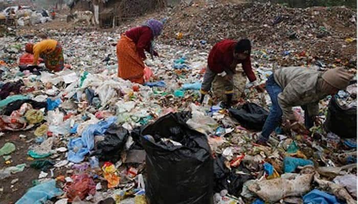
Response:
[[[334,195],[314,189],[303,196],[305,204],[340,204]]]

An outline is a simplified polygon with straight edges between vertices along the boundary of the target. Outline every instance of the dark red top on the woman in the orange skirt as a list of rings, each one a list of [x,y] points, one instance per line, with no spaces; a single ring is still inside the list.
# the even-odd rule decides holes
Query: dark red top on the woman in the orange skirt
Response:
[[[137,51],[139,56],[142,59],[146,59],[147,57],[144,54],[144,50],[148,53],[150,52],[150,43],[153,39],[152,31],[149,27],[141,26],[137,28],[133,28],[125,32],[125,35],[132,39],[134,43],[136,43]],[[158,56],[158,54],[154,51],[154,56]]]

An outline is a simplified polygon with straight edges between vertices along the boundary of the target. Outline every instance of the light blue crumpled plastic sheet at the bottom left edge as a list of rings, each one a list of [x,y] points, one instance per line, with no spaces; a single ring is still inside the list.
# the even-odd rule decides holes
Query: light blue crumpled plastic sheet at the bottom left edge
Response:
[[[56,181],[51,180],[46,183],[39,184],[30,188],[23,197],[21,197],[15,204],[41,204],[47,200],[62,195],[61,189],[56,188]]]

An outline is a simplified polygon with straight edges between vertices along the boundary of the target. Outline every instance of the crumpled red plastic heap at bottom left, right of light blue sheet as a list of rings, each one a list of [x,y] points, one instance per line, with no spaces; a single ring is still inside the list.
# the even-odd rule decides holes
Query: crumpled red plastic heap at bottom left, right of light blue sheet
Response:
[[[66,192],[69,202],[72,202],[77,196],[83,200],[87,195],[95,195],[96,183],[92,177],[86,173],[73,174],[73,182],[66,183],[63,191]]]

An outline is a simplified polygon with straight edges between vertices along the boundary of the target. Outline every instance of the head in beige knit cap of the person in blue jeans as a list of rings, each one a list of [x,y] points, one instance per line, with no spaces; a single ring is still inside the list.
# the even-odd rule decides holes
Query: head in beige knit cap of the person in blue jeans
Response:
[[[344,70],[344,68],[329,69],[322,75],[322,79],[327,83],[325,91],[329,95],[337,94],[339,90],[346,89],[352,78],[353,75]]]

